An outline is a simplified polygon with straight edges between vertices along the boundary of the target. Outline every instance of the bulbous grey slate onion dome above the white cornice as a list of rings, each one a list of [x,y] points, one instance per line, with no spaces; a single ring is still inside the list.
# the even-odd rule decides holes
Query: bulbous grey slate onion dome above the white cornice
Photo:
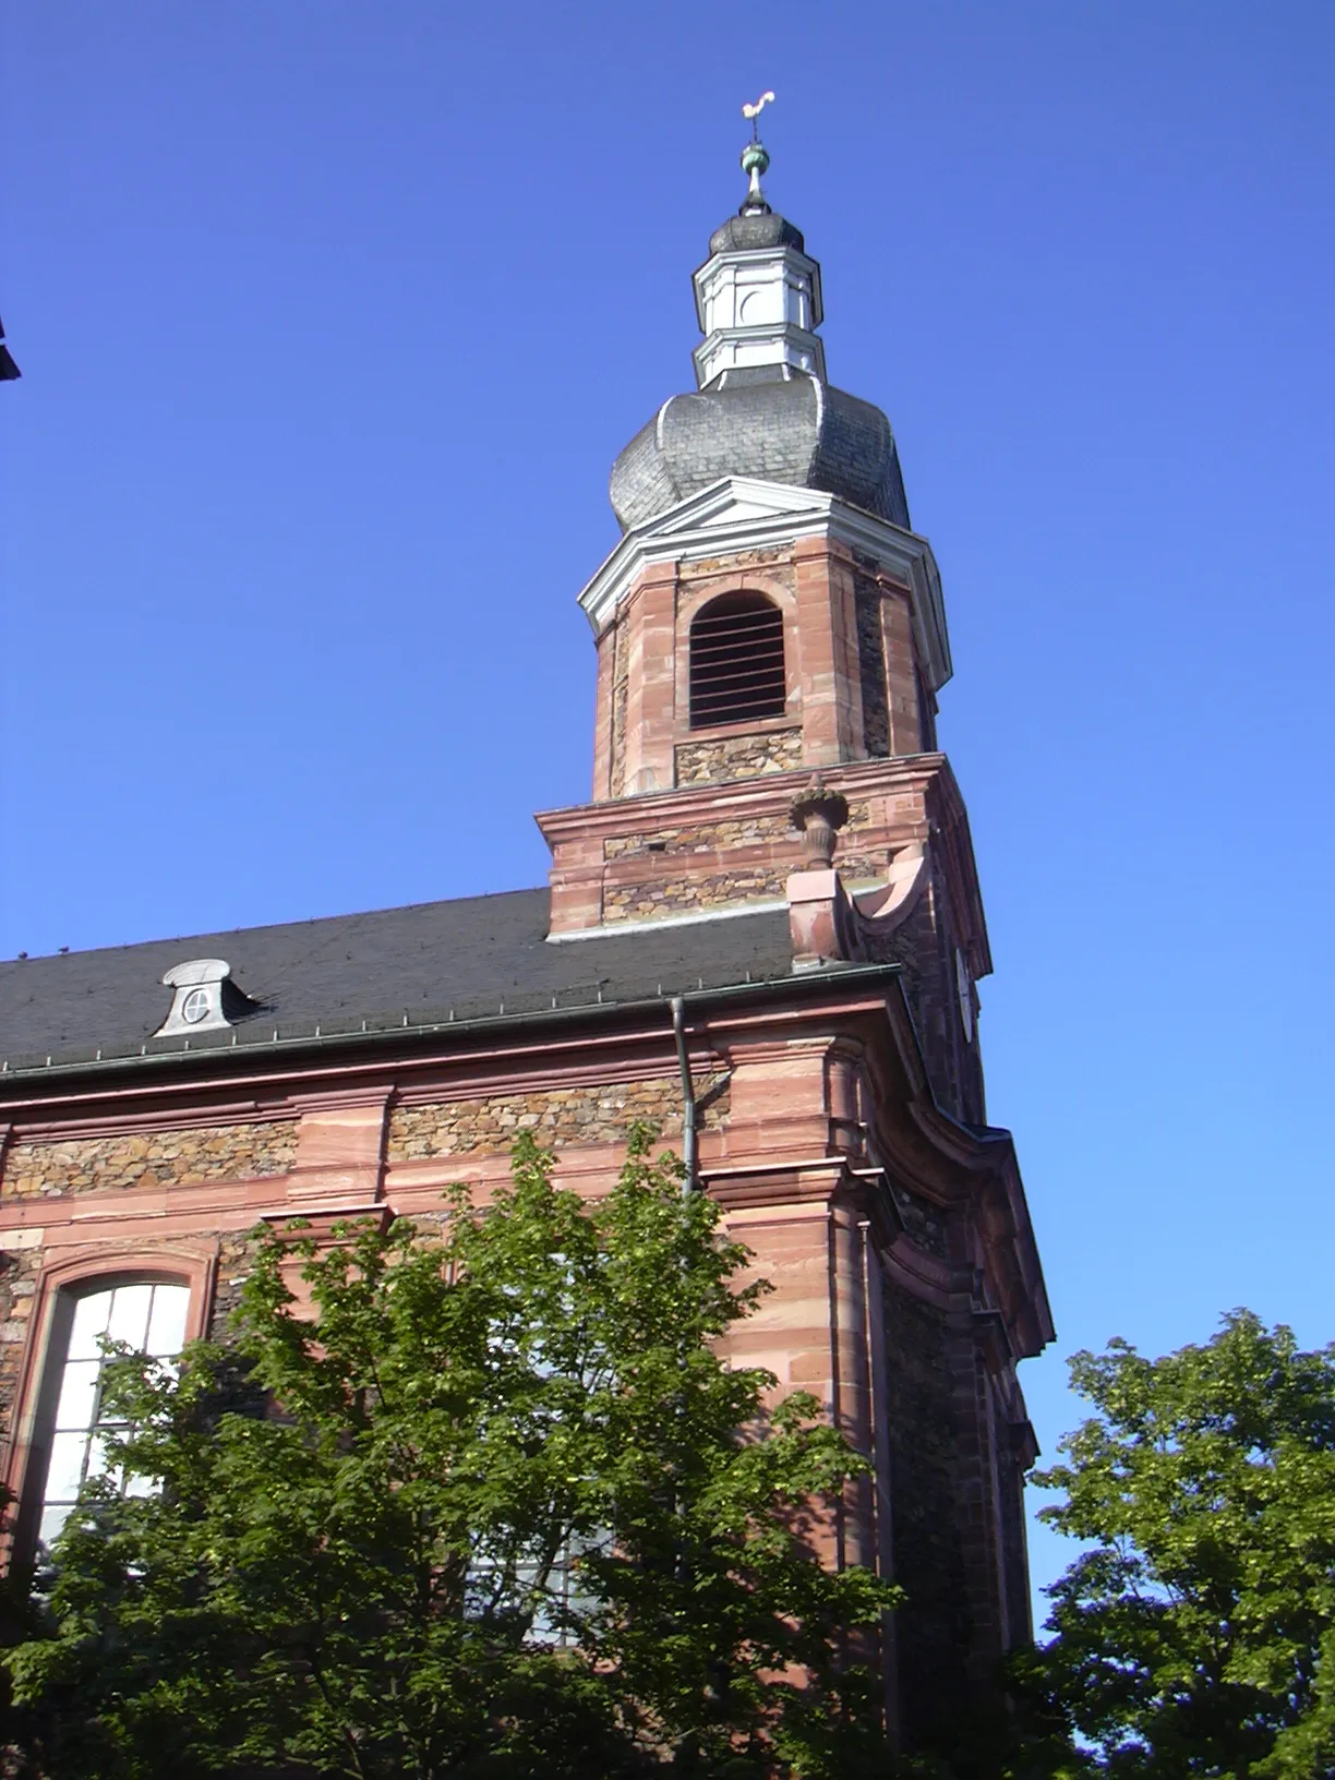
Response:
[[[630,530],[724,475],[819,488],[908,529],[886,417],[789,365],[724,370],[664,402],[612,465],[612,509]]]

